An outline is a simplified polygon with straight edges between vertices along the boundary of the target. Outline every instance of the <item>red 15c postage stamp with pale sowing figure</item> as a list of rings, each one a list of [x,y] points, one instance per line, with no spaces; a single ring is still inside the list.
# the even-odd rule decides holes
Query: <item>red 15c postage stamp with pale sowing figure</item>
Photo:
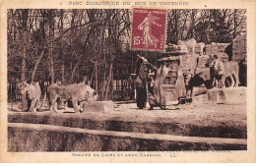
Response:
[[[163,51],[166,10],[133,9],[131,49]]]

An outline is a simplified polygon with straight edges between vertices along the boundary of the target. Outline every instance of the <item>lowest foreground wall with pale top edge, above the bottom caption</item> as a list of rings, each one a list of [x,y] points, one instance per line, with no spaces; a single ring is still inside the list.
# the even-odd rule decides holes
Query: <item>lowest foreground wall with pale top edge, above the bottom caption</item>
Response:
[[[8,151],[246,150],[244,138],[198,138],[8,124]]]

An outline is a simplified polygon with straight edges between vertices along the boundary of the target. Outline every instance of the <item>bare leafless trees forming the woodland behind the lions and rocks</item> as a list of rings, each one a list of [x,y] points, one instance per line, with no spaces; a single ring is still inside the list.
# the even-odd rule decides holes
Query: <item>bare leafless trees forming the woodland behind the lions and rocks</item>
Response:
[[[144,54],[129,50],[130,17],[128,9],[10,9],[8,77],[35,82],[45,76],[50,83],[79,83],[87,77],[107,99],[113,80],[125,84],[136,68],[134,55]],[[166,43],[189,38],[231,42],[246,30],[246,10],[171,9],[166,30]],[[157,63],[157,53],[145,55]]]

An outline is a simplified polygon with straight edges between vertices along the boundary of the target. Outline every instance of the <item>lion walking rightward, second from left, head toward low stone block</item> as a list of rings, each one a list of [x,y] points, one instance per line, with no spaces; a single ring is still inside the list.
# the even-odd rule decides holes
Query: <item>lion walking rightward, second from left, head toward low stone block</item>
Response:
[[[96,100],[96,90],[85,83],[53,83],[47,87],[47,93],[50,112],[57,112],[57,110],[53,108],[53,105],[58,98],[61,101],[72,101],[76,112],[82,112],[78,102],[91,102]]]

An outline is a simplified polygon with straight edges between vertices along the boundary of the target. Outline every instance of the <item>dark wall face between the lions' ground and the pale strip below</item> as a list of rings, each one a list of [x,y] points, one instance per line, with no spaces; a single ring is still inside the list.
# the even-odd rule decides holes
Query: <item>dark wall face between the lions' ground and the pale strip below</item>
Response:
[[[179,120],[178,120],[179,121]],[[44,124],[82,128],[88,130],[132,132],[143,134],[166,134],[188,137],[209,138],[247,138],[247,128],[241,124],[215,123],[215,126],[199,123],[184,124],[170,117],[149,117],[129,119],[122,116],[105,117],[104,114],[88,112],[87,114],[50,113],[50,112],[10,112],[9,123]]]

